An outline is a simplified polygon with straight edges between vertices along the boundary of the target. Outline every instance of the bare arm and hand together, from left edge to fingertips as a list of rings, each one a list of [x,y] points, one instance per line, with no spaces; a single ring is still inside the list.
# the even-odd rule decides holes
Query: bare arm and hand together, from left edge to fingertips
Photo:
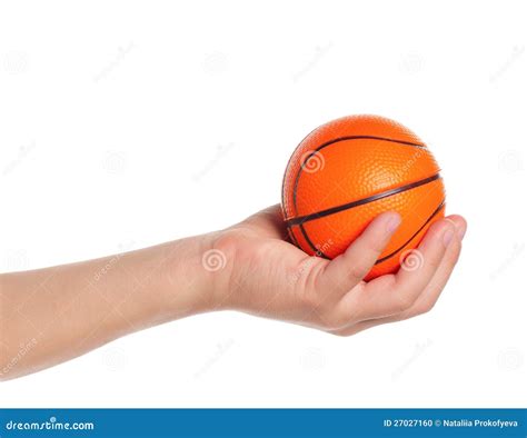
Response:
[[[340,336],[427,312],[458,260],[466,221],[435,222],[418,269],[362,278],[400,217],[377,217],[329,261],[287,241],[279,206],[228,229],[97,260],[0,275],[0,379],[31,374],[127,334],[235,309]]]

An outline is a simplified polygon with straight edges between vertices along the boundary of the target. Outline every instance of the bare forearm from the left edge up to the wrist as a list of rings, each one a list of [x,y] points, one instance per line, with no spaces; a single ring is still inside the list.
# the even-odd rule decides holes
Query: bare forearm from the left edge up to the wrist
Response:
[[[213,307],[209,235],[97,260],[0,276],[0,379],[82,355]]]

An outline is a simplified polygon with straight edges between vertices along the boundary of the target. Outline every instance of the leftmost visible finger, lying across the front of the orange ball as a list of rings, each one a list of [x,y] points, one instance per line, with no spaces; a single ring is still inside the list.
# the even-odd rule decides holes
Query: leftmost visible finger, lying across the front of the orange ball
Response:
[[[395,211],[375,218],[342,255],[326,266],[320,276],[320,287],[331,289],[340,297],[358,285],[388,245],[400,220]]]

